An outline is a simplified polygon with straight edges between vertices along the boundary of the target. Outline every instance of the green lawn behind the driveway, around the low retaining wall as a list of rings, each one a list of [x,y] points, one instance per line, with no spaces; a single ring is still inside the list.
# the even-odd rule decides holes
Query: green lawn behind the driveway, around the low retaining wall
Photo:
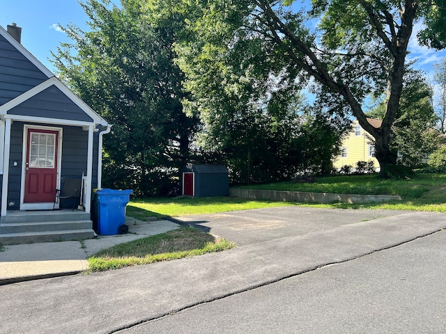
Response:
[[[240,188],[269,189],[286,191],[311,191],[320,193],[358,193],[376,195],[399,195],[401,201],[385,203],[327,205],[295,202],[268,202],[241,198],[140,198],[128,205],[128,215],[146,219],[149,216],[186,216],[261,207],[284,205],[305,205],[351,209],[398,209],[432,212],[446,212],[446,175],[417,174],[410,180],[381,180],[376,175],[352,175],[319,177],[315,183],[279,182],[243,186]]]

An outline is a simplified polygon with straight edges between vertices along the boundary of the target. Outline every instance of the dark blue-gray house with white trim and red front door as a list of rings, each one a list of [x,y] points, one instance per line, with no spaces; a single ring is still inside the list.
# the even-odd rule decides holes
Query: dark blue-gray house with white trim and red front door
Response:
[[[0,26],[0,225],[17,210],[53,209],[67,178],[83,177],[89,214],[111,125],[22,47],[20,30]]]

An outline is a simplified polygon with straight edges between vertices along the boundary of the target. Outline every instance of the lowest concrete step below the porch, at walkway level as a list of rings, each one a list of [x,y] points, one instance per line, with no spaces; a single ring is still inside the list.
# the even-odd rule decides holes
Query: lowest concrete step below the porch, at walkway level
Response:
[[[84,230],[21,232],[0,234],[0,244],[29,244],[35,242],[91,239],[93,237],[95,237],[95,232],[91,228]]]

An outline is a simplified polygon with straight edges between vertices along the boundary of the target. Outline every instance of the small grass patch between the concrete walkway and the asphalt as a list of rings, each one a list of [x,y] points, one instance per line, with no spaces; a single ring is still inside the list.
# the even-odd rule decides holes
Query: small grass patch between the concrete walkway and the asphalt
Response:
[[[100,250],[89,258],[86,273],[215,253],[235,246],[194,228],[178,228]]]

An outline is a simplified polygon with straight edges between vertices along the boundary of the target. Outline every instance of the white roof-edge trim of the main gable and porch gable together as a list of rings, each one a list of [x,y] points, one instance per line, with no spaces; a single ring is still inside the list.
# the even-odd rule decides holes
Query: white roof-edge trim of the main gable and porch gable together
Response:
[[[19,119],[24,118],[23,120],[29,120],[29,121],[38,121],[38,120],[45,120],[47,122],[53,122],[57,123],[59,122],[59,119],[47,119],[43,117],[29,117],[29,116],[16,116],[16,115],[8,115],[8,111],[13,109],[15,106],[18,106],[19,104],[22,104],[26,100],[29,100],[31,97],[36,96],[38,93],[43,92],[43,90],[55,86],[56,88],[59,88],[61,92],[68,97],[69,100],[71,100],[75,105],[77,105],[84,113],[86,113],[89,118],[91,118],[92,122],[95,125],[102,125],[102,127],[106,127],[108,125],[108,122],[98,115],[91,107],[86,104],[80,97],[75,95],[75,93],[70,90],[65,84],[63,84],[57,77],[47,69],[36,57],[34,57],[28,50],[26,50],[17,40],[15,40],[5,29],[3,29],[2,26],[0,26],[0,35],[5,38],[10,45],[13,45],[17,51],[19,51],[26,59],[28,59],[33,65],[35,65],[38,70],[43,72],[45,76],[48,78],[46,81],[44,81],[42,84],[39,84],[38,86],[35,86],[31,88],[30,90],[26,91],[25,93],[22,93],[22,95],[19,95],[15,97],[13,100],[10,100],[9,102],[6,102],[5,104],[2,104],[0,106],[0,116],[1,118],[11,118],[11,119]],[[73,120],[72,122],[68,122],[65,120],[66,124],[68,125],[87,125],[89,122],[78,122]],[[60,122],[59,122],[60,123]]]

